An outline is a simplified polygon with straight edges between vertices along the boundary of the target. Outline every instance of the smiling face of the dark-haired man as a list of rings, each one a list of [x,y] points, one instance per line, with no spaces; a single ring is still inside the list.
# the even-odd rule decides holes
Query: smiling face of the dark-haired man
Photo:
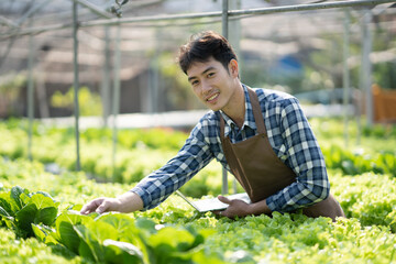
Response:
[[[231,61],[228,68],[229,70],[220,62],[210,58],[205,63],[194,63],[187,70],[194,94],[213,111],[231,107],[238,88],[237,61]]]

